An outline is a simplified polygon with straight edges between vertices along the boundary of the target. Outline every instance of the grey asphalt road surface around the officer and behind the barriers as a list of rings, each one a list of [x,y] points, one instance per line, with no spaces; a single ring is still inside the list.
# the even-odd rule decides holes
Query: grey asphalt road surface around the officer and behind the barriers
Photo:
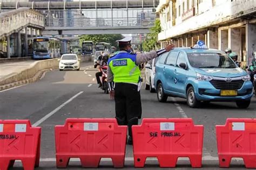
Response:
[[[82,66],[80,71],[53,70],[38,82],[0,92],[0,119],[30,119],[31,124],[42,127],[41,163],[37,169],[56,169],[55,125],[63,125],[65,119],[70,117],[114,117],[114,101],[98,88],[95,79],[97,70],[92,67],[92,63],[84,63]],[[156,93],[150,93],[145,88],[141,96],[143,117],[190,117],[194,124],[204,125],[201,169],[219,169],[215,125],[225,124],[229,117],[256,117],[254,97],[248,109],[238,109],[235,103],[228,102],[210,103],[200,109],[191,109],[181,98],[169,97],[167,103],[160,103]],[[125,169],[134,169],[132,158],[132,146],[127,145]],[[80,168],[80,162],[71,159],[67,169]],[[112,162],[104,159],[99,168],[111,169]],[[145,168],[157,169],[158,162],[149,159]],[[178,160],[176,168],[191,168],[190,161]],[[242,160],[232,160],[230,169],[242,168],[245,168]],[[21,162],[17,161],[12,169],[22,169]]]

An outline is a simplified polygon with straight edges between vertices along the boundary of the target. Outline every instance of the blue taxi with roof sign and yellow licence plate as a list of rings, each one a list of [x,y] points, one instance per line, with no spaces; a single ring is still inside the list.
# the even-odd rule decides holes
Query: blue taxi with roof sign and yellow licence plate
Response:
[[[236,102],[238,108],[247,108],[253,95],[250,75],[223,51],[200,43],[162,54],[156,63],[154,86],[158,101],[182,97],[191,108],[211,101]]]

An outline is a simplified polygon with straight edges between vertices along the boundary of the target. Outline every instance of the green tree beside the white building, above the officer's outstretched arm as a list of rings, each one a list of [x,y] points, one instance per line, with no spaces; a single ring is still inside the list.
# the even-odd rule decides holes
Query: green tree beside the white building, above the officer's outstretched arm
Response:
[[[153,49],[160,47],[157,42],[158,33],[160,32],[161,32],[160,20],[157,19],[154,22],[154,26],[150,29],[150,33],[147,34],[147,37],[142,44],[143,51],[151,51]]]

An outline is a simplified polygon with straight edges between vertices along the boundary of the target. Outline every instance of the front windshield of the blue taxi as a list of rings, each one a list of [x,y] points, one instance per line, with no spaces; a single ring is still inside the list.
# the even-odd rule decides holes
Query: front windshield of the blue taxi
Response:
[[[195,68],[236,68],[235,63],[226,54],[188,53],[188,61]]]

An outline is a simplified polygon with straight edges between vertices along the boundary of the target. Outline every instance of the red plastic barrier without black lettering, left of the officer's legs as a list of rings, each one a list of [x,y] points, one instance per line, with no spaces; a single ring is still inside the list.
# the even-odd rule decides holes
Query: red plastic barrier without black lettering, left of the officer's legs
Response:
[[[126,134],[114,118],[68,118],[55,126],[57,167],[67,167],[70,158],[80,158],[83,167],[96,168],[101,158],[124,167]]]

